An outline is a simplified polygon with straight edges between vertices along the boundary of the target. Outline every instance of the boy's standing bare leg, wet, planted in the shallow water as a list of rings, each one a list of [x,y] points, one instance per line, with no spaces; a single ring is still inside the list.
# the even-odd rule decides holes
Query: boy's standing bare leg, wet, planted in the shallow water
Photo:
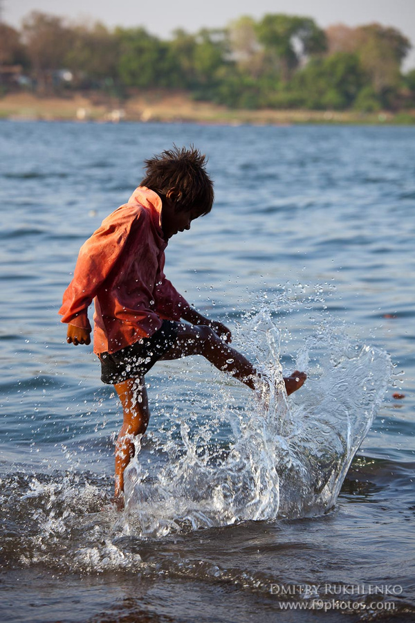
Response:
[[[133,437],[142,435],[149,423],[149,404],[144,377],[127,379],[114,385],[124,411],[124,421],[116,441],[116,487],[114,499],[122,506],[124,469],[134,455]]]

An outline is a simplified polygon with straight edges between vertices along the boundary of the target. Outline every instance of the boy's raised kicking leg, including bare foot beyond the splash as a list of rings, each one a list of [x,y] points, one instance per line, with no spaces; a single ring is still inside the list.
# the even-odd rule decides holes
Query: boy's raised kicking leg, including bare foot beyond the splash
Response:
[[[259,374],[243,354],[221,340],[207,325],[195,326],[181,323],[176,343],[165,353],[163,359],[179,359],[192,354],[201,354],[215,368],[232,374],[232,377],[255,390],[255,380]],[[287,394],[292,394],[299,389],[305,380],[305,372],[299,372],[299,370],[295,370],[290,377],[284,378]]]

